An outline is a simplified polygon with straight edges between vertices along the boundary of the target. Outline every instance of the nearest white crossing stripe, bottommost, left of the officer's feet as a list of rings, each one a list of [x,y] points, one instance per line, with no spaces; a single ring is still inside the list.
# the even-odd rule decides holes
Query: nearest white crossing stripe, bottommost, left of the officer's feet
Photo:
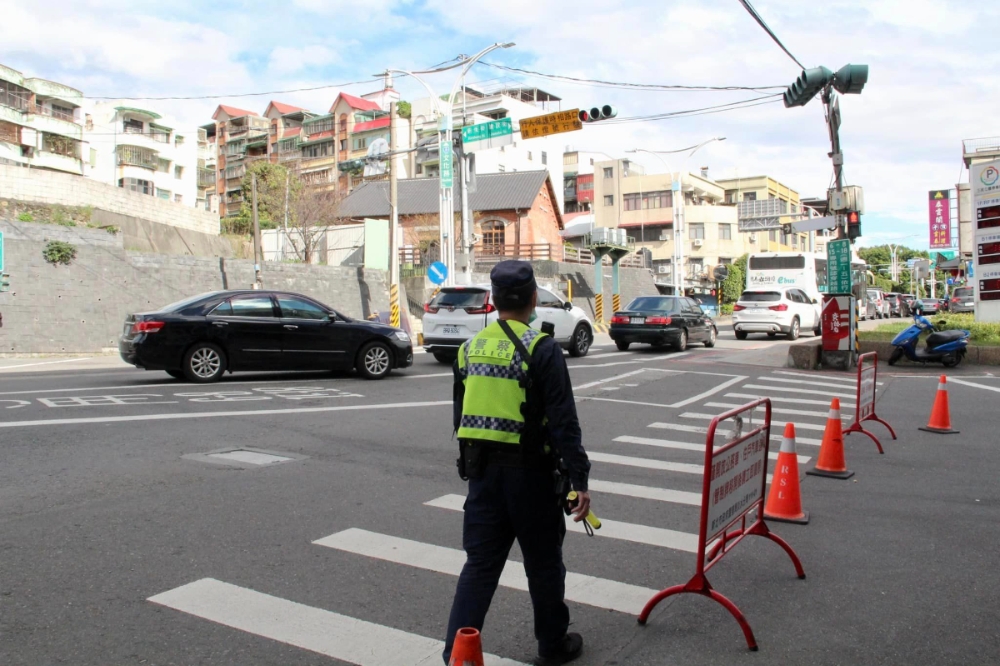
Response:
[[[154,604],[358,666],[438,666],[444,643],[255,590],[202,578]],[[492,666],[520,666],[493,655]]]

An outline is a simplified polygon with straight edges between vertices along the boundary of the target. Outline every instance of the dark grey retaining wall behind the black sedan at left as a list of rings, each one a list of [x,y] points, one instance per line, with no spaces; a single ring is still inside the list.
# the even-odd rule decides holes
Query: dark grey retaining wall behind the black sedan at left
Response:
[[[0,221],[11,291],[0,293],[0,353],[92,353],[117,347],[125,316],[207,291],[249,288],[253,263],[126,250],[121,235],[80,227]],[[76,259],[54,266],[49,241],[72,243]],[[297,291],[351,317],[388,309],[383,271],[265,264],[264,286]]]

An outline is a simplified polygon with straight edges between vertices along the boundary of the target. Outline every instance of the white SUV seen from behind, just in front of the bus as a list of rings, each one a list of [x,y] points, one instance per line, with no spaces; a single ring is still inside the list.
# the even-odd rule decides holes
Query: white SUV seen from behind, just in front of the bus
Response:
[[[754,289],[744,291],[733,306],[736,338],[746,340],[749,333],[784,333],[797,340],[801,329],[821,334],[820,306],[801,289]]]

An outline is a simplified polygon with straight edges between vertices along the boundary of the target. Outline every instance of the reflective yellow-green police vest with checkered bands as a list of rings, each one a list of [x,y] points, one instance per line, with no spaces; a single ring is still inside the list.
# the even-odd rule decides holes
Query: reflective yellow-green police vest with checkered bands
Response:
[[[519,321],[507,323],[529,354],[545,335]],[[522,380],[527,379],[528,364],[498,323],[462,345],[458,368],[465,377],[458,438],[520,444],[525,425],[521,407],[527,393]]]

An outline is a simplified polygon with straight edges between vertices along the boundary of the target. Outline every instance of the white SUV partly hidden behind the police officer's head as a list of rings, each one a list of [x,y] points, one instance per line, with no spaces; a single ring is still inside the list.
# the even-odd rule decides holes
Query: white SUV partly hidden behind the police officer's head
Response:
[[[442,288],[424,305],[424,349],[441,363],[453,362],[463,342],[497,320],[490,296],[490,285]],[[535,315],[531,325],[541,329],[545,322],[552,322],[556,342],[571,356],[586,356],[590,351],[594,325],[580,308],[539,287]]]

